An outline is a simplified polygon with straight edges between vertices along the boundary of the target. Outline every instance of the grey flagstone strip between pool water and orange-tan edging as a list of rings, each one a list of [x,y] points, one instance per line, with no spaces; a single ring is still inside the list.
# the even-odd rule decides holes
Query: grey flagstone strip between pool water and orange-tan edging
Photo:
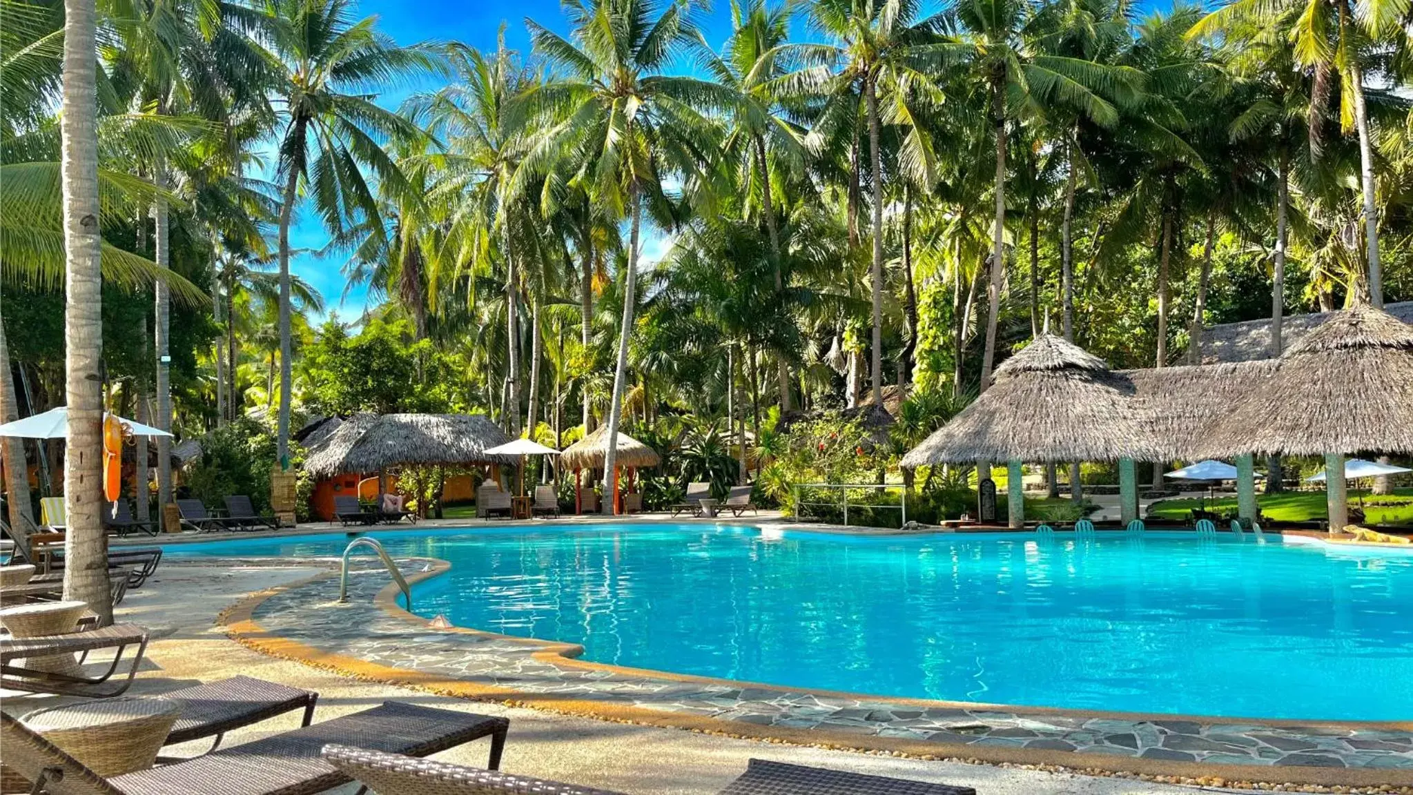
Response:
[[[418,570],[425,561],[400,562]],[[1239,765],[1306,765],[1413,771],[1413,731],[1338,726],[1262,726],[1195,720],[1123,720],[1037,710],[998,712],[910,706],[726,682],[656,678],[536,658],[537,647],[487,634],[439,631],[390,616],[373,603],[387,585],[382,569],[349,578],[349,603],[338,578],[277,592],[254,621],[267,633],[326,654],[462,679],[523,693],[527,702],[603,702],[745,724],[821,729],[971,747],[1005,746],[1081,754],[1113,754]],[[729,727],[723,727],[729,731]],[[1077,765],[1085,764],[1077,760]]]

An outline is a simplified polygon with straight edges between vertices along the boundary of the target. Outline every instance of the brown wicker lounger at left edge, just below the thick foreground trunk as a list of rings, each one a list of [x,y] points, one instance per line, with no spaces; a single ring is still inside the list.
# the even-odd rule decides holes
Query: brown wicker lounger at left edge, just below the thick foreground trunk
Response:
[[[123,664],[129,647],[137,647],[130,657],[127,675],[116,683],[109,683]],[[107,671],[97,676],[88,674],[68,675],[25,668],[21,661],[57,654],[88,654],[114,650]],[[147,652],[147,630],[133,624],[112,624],[83,633],[62,635],[41,635],[35,638],[14,638],[0,635],[0,689],[27,693],[54,693],[61,696],[109,698],[122,695],[133,683],[133,674]]]

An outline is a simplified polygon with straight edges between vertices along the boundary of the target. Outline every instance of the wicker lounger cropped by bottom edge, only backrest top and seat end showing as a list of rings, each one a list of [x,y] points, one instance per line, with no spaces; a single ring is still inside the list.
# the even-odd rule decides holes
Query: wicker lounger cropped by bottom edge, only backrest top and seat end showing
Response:
[[[346,746],[328,746],[324,758],[379,795],[620,795],[490,770],[414,760]],[[746,772],[721,795],[976,795],[969,787],[948,787],[880,775],[750,760]]]

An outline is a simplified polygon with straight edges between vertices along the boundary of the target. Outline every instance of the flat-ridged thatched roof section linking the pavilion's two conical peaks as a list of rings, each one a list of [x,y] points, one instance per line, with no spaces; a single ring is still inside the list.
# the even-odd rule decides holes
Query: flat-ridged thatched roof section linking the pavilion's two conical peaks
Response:
[[[1166,460],[1202,458],[1212,425],[1276,371],[1270,359],[1188,367],[1118,370],[1133,387],[1143,425]],[[1225,458],[1225,456],[1222,456]]]

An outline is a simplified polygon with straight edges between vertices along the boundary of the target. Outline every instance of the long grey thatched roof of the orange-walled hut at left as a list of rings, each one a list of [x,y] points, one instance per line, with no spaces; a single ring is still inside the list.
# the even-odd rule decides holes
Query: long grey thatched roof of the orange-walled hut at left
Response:
[[[356,415],[304,462],[315,477],[379,472],[407,465],[517,463],[486,455],[510,436],[479,414]]]

